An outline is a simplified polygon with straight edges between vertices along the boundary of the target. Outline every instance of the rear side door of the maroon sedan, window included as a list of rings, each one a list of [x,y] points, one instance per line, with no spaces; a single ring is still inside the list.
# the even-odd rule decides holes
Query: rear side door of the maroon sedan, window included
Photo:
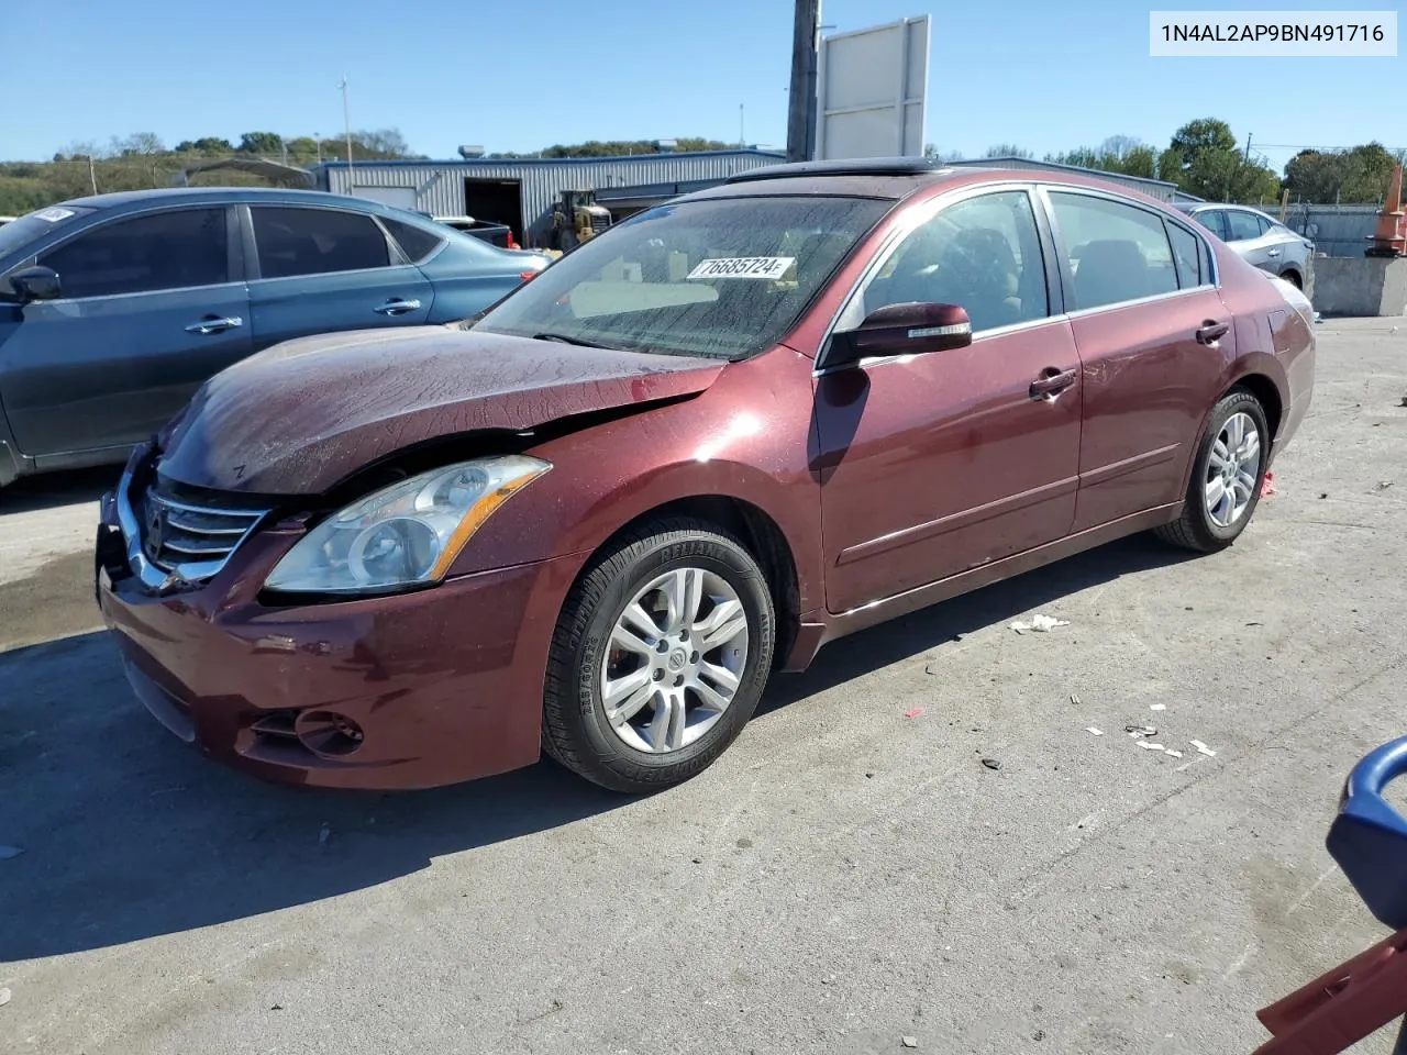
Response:
[[[1128,198],[1047,188],[1083,370],[1075,530],[1182,498],[1234,340],[1209,245]]]

